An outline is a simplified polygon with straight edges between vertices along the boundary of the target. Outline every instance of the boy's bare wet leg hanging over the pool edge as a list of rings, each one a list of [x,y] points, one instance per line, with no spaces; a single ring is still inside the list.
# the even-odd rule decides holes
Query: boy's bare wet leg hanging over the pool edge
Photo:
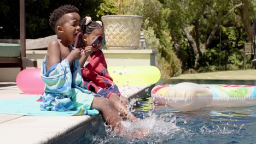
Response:
[[[121,117],[118,115],[117,110],[114,105],[110,103],[110,100],[102,97],[94,97],[92,101],[92,109],[96,109],[101,112],[101,115],[107,125],[112,127],[112,130],[118,129],[118,133],[123,131],[123,126],[121,125]]]

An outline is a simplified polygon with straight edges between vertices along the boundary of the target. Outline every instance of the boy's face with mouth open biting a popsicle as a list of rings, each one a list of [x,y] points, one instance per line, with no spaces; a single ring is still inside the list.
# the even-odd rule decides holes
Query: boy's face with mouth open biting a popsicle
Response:
[[[61,33],[61,39],[68,43],[75,42],[75,35],[81,32],[80,15],[78,13],[68,13],[61,17],[62,26],[58,26],[57,30]]]

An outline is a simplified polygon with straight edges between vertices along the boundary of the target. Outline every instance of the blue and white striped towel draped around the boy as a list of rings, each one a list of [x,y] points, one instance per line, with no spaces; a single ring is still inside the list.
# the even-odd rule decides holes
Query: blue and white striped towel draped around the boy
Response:
[[[88,110],[83,106],[77,107],[74,102],[75,88],[85,94],[92,94],[84,88],[83,78],[80,71],[79,61],[73,62],[73,73],[69,67],[67,59],[53,65],[46,71],[46,61],[44,58],[40,75],[45,83],[43,95],[43,104],[40,109],[43,111],[75,111],[78,110],[79,115],[87,115]]]

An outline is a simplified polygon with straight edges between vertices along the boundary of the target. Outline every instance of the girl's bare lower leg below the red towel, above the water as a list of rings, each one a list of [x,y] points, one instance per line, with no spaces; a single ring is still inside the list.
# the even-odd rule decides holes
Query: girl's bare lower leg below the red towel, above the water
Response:
[[[109,100],[114,105],[115,109],[120,112],[120,115],[125,119],[130,119],[132,122],[137,122],[137,118],[127,109],[127,107],[119,101],[119,97],[116,93],[110,95]]]

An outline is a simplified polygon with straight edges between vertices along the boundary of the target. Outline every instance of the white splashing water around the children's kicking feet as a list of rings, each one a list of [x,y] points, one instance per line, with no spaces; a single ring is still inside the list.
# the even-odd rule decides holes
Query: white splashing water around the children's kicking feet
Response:
[[[176,126],[174,120],[167,123],[159,120],[156,115],[152,115],[135,123],[122,121],[122,124],[126,128],[124,135],[117,135],[113,133],[113,131],[106,129],[105,136],[107,137],[97,134],[92,137],[92,143],[137,143],[147,142],[149,140],[152,141],[152,143],[158,143],[162,142],[164,137],[174,137],[177,131],[181,130],[181,128]],[[126,135],[137,133],[139,130],[147,130],[149,133],[143,138],[131,138]]]

